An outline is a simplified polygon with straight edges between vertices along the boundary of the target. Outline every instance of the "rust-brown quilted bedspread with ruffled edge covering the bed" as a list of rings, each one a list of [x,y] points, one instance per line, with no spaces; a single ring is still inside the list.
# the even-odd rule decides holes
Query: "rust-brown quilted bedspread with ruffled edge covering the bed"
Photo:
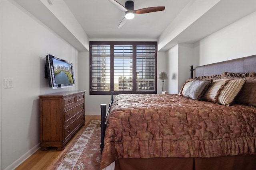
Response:
[[[239,154],[256,154],[256,107],[120,94],[110,109],[100,168],[119,158]]]

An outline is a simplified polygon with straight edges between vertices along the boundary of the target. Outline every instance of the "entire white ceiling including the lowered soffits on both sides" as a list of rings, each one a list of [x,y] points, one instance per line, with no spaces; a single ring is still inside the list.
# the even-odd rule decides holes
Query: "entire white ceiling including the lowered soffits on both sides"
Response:
[[[52,5],[49,4],[52,2]],[[125,6],[126,0],[117,0]],[[166,51],[194,43],[256,11],[256,0],[134,0],[134,10],[165,6],[164,11],[136,14],[121,28],[124,12],[108,0],[16,0],[23,8],[73,45],[88,51],[88,41],[158,41]]]

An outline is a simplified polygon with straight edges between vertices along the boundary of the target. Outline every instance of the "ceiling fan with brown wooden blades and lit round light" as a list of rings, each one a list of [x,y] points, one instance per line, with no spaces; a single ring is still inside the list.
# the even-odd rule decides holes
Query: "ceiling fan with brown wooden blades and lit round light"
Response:
[[[125,12],[125,17],[123,20],[120,22],[118,25],[118,28],[122,27],[124,23],[126,23],[127,20],[130,20],[134,18],[134,14],[145,14],[145,13],[150,13],[150,12],[158,12],[158,11],[163,11],[165,9],[164,6],[154,6],[154,7],[148,7],[148,8],[142,8],[139,10],[134,10],[134,2],[131,0],[128,0],[125,2],[125,7],[122,6],[119,2],[116,0],[109,0],[114,4],[117,8]]]

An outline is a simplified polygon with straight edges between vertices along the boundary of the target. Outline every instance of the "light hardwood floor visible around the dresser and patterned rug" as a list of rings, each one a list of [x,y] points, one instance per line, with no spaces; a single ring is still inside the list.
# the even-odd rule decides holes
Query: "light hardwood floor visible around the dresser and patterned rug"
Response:
[[[90,119],[100,119],[100,115],[86,115],[85,125],[87,125]],[[76,133],[76,135],[80,132],[80,130]],[[74,137],[72,139],[74,139]],[[72,141],[72,139],[70,141]],[[70,145],[70,142],[67,143],[66,147],[68,147],[68,145]],[[51,170],[52,166],[64,153],[64,150],[58,151],[57,148],[50,148],[46,151],[41,151],[41,149],[38,149],[15,170]]]

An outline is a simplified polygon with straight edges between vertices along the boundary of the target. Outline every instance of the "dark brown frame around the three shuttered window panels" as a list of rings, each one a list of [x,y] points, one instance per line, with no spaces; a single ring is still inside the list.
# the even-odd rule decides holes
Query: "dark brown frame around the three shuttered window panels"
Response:
[[[110,45],[110,91],[92,91],[92,46],[93,45]],[[114,45],[132,45],[132,91],[114,91]],[[136,55],[137,45],[154,45],[154,91],[136,91]],[[114,95],[117,94],[156,94],[157,92],[157,42],[156,41],[90,41],[90,95]]]

